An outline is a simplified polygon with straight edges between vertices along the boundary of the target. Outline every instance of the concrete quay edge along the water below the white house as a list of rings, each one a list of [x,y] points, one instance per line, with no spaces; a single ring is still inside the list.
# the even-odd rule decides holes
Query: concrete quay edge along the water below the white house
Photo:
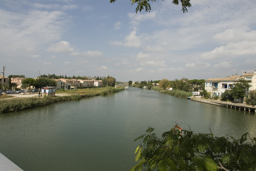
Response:
[[[235,102],[227,102],[227,101],[220,101],[220,100],[210,100],[210,99],[201,98],[201,96],[190,97],[190,100],[203,102],[203,103],[207,103],[207,104],[212,104],[212,105],[224,106],[227,108],[248,110],[249,112],[256,113],[256,106],[247,105],[244,103],[235,103]]]

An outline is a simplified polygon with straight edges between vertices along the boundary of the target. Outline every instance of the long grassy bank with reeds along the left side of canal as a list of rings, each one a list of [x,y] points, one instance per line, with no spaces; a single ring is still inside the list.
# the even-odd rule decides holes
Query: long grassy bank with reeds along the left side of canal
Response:
[[[56,97],[27,97],[27,98],[12,98],[0,101],[0,113],[15,112],[27,108],[34,108],[53,104],[59,101],[78,100],[82,97],[96,96],[101,94],[108,94],[110,92],[118,92],[124,90],[123,87],[119,88],[94,88],[94,89],[79,89],[79,90],[64,90],[56,91]],[[57,93],[67,94],[67,96],[58,96]]]

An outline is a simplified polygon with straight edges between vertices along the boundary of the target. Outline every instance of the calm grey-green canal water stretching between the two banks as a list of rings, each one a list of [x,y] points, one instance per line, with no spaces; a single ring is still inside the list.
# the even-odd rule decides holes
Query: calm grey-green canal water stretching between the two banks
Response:
[[[131,88],[0,114],[0,152],[24,171],[125,171],[148,126],[256,136],[255,113]]]

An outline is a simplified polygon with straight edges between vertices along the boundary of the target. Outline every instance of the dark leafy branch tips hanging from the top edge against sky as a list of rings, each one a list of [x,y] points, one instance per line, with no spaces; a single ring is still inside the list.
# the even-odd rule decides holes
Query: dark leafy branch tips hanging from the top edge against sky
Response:
[[[110,3],[114,3],[115,1],[116,0],[110,0]],[[156,0],[151,0],[151,1],[156,1]],[[148,2],[149,0],[132,0],[132,4],[137,3],[135,12],[136,13],[138,13],[138,11],[141,12],[142,9],[144,10],[144,8],[146,12],[150,12],[151,6]],[[188,12],[187,7],[188,8],[191,7],[190,0],[173,0],[172,1],[172,4],[175,4],[175,5],[178,5],[179,3],[181,3],[183,13]]]

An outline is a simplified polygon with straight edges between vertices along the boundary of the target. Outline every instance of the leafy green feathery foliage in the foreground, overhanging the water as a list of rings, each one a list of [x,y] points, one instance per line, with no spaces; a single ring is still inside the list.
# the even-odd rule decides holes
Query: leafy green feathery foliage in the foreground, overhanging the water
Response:
[[[216,171],[243,170],[256,168],[256,137],[248,133],[241,139],[231,136],[214,137],[213,133],[196,134],[182,130],[175,125],[164,132],[162,138],[152,133],[148,127],[147,134],[134,141],[143,139],[143,145],[136,148],[135,161],[139,162],[130,171]]]

